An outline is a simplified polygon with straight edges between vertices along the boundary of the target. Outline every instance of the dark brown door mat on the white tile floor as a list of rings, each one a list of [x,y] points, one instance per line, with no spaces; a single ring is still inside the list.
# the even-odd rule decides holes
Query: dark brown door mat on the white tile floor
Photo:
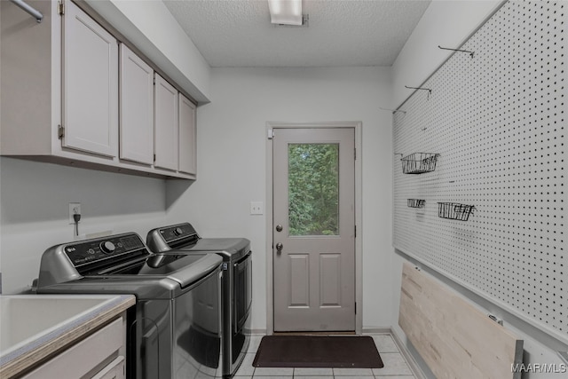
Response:
[[[264,336],[254,367],[383,368],[370,336]]]

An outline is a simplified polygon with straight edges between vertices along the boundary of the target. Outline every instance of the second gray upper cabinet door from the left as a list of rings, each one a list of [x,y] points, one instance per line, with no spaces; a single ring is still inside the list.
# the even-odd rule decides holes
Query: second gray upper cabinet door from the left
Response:
[[[154,162],[154,70],[121,43],[120,157]]]

